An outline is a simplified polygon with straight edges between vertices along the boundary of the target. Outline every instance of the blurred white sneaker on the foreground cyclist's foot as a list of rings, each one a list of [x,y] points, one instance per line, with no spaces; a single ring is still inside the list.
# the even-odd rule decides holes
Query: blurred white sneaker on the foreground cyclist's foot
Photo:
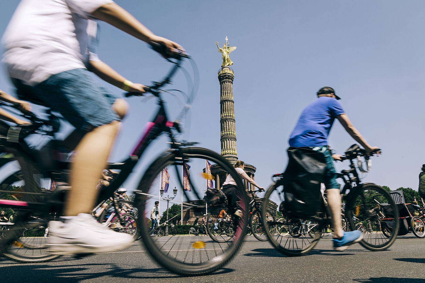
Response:
[[[79,213],[65,222],[49,222],[49,247],[54,255],[113,252],[130,246],[134,239],[114,232],[97,222],[90,214]]]

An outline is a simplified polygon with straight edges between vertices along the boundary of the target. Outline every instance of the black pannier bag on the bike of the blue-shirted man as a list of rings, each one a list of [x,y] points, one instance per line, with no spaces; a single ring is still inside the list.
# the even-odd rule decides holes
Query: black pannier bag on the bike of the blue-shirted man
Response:
[[[294,217],[314,216],[323,202],[320,183],[326,172],[325,156],[311,149],[290,147],[283,174],[285,211]]]

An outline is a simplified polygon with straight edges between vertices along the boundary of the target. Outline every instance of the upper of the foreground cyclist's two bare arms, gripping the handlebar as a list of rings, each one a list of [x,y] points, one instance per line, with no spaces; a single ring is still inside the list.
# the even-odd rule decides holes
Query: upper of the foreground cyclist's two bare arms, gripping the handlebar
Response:
[[[136,20],[130,13],[125,11],[125,9],[121,8],[116,3],[109,3],[101,6],[94,11],[92,15],[144,42],[149,43],[150,41],[153,41],[164,45],[167,49],[166,55],[171,55],[176,51],[175,49],[184,51],[184,49],[176,42],[172,42],[171,40],[153,34],[152,31],[142,25],[142,23]]]

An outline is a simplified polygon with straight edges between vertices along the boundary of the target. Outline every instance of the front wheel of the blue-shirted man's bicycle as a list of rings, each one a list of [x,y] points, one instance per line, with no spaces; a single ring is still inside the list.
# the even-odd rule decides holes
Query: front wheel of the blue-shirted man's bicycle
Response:
[[[384,215],[391,216],[391,219],[394,218],[394,226],[388,238],[380,228],[382,223],[385,222],[373,213],[377,203],[382,204],[380,207],[384,207],[382,208]],[[370,227],[365,227],[363,231],[364,237],[359,243],[366,249],[382,251],[391,247],[396,240],[399,231],[399,210],[390,194],[384,188],[371,183],[353,188],[353,191],[347,195],[346,219],[348,219],[351,229],[356,230],[353,216],[356,216],[362,223],[367,221],[379,221],[380,223],[380,225],[374,223]]]

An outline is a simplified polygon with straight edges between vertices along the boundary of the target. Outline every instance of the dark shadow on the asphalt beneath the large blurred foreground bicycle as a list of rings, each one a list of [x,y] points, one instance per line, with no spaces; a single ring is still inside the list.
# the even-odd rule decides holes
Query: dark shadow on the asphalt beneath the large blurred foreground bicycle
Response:
[[[223,268],[216,272],[212,272],[209,275],[225,274],[232,271],[234,270]],[[175,275],[162,268],[122,268],[116,264],[111,263],[69,264],[62,266],[52,266],[47,264],[1,266],[0,264],[0,274],[2,277],[8,278],[8,283],[79,283],[83,280],[90,280],[101,277],[113,279],[113,282],[119,282],[119,278],[161,279],[185,277],[181,275]]]

